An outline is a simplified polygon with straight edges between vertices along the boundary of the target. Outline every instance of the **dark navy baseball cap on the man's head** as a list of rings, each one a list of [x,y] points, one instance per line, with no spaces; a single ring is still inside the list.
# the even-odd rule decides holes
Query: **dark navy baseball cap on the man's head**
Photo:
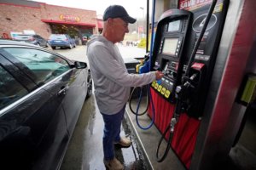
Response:
[[[103,14],[103,21],[108,20],[109,18],[121,18],[122,20],[125,20],[125,22],[128,23],[135,23],[136,19],[132,18],[125,10],[124,7],[120,5],[111,5],[108,8],[106,8],[104,14]]]

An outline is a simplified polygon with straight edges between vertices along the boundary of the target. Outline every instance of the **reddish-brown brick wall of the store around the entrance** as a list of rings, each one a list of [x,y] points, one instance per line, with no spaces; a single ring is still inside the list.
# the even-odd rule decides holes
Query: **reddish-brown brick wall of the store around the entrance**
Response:
[[[20,6],[14,4],[0,4],[0,37],[3,33],[35,31],[38,35],[48,38],[51,34],[49,24],[41,20],[59,20],[60,14],[79,17],[79,23],[95,25],[93,32],[97,31],[96,11],[79,8],[65,8],[61,6],[40,3],[40,8]],[[63,20],[62,20],[63,21]]]

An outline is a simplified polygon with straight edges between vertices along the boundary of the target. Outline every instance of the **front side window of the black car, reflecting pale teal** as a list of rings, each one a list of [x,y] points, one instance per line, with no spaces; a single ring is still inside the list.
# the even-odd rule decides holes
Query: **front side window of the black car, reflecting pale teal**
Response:
[[[44,84],[70,69],[61,57],[32,48],[3,48],[22,62],[35,75],[35,82]]]

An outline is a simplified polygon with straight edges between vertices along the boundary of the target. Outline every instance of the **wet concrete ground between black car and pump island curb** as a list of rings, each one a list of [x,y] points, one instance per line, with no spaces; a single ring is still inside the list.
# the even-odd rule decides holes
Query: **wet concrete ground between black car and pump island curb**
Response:
[[[61,170],[105,169],[102,150],[103,120],[95,102],[94,95],[84,102]],[[121,135],[127,136],[132,141],[129,148],[115,147],[116,157],[124,163],[125,169],[151,169],[143,155],[143,150],[137,143],[136,135],[131,132],[125,120],[122,122]]]

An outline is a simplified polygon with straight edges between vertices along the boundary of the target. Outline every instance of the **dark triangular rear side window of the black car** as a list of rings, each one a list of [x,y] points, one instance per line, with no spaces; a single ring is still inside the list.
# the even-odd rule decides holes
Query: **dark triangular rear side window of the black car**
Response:
[[[20,82],[0,65],[0,110],[28,94]]]

